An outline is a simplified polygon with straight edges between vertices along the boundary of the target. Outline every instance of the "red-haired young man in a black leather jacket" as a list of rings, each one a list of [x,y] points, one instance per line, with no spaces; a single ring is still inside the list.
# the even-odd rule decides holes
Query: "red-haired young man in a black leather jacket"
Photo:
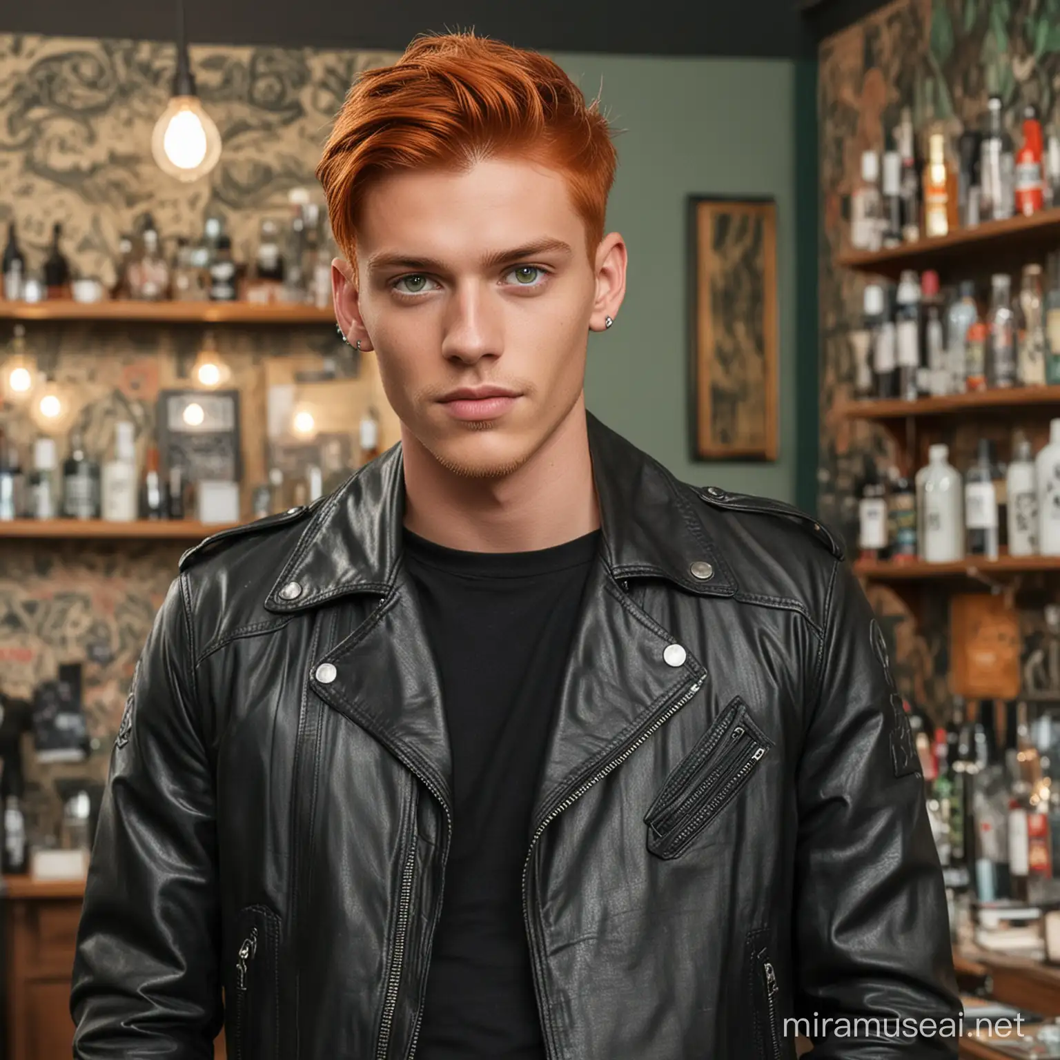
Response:
[[[81,1060],[205,1060],[222,993],[233,1060],[776,1060],[799,1018],[822,1060],[955,1055],[917,756],[838,544],[585,411],[614,167],[534,53],[422,39],[351,91],[335,307],[402,443],[182,559],[100,818]]]

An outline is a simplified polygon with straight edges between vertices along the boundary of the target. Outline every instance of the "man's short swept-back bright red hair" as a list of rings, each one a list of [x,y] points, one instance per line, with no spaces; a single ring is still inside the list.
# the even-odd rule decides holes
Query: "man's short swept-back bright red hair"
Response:
[[[566,178],[591,255],[617,161],[598,101],[586,104],[537,52],[471,33],[421,37],[393,66],[363,73],[335,121],[317,166],[335,242],[354,262],[357,210],[375,177],[515,153]]]

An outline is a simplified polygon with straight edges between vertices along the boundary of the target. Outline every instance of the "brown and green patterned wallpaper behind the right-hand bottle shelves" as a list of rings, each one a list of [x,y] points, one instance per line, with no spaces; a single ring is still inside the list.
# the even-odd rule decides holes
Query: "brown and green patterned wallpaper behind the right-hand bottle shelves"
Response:
[[[862,312],[864,280],[840,268],[849,246],[844,207],[859,176],[863,151],[881,151],[903,106],[922,125],[934,114],[952,132],[978,127],[992,92],[1005,101],[1006,123],[1017,143],[1020,113],[1034,103],[1043,124],[1060,122],[1060,0],[897,0],[820,49],[819,172],[822,254],[819,273],[822,393],[820,514],[858,540],[856,480],[866,455],[890,460],[882,429],[837,414],[853,394],[849,335]],[[1000,431],[1000,434],[997,432]],[[979,434],[1002,440],[1004,427],[954,425],[947,439],[958,469],[967,466]],[[896,677],[907,696],[936,719],[948,704],[948,622],[943,595],[926,600],[918,628],[900,596],[868,587],[896,652]],[[1024,597],[1021,624],[1034,637],[1042,624],[1038,593]]]

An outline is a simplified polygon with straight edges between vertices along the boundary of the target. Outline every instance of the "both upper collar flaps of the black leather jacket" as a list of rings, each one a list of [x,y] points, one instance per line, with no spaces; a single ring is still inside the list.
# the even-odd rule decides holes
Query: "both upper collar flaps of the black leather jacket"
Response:
[[[705,596],[736,593],[701,514],[690,507],[694,493],[596,417],[589,414],[587,423],[604,559],[613,577],[620,582],[662,578]],[[351,593],[386,596],[401,560],[404,511],[399,443],[316,511],[269,591],[266,608],[286,614]],[[712,576],[693,577],[696,562],[708,563]]]

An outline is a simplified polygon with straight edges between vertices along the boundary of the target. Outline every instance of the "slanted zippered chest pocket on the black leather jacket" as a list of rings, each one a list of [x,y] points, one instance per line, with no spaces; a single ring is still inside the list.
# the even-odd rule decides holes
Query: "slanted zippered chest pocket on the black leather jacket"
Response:
[[[648,849],[677,858],[747,783],[773,746],[739,697],[718,716],[667,778],[644,814]]]

